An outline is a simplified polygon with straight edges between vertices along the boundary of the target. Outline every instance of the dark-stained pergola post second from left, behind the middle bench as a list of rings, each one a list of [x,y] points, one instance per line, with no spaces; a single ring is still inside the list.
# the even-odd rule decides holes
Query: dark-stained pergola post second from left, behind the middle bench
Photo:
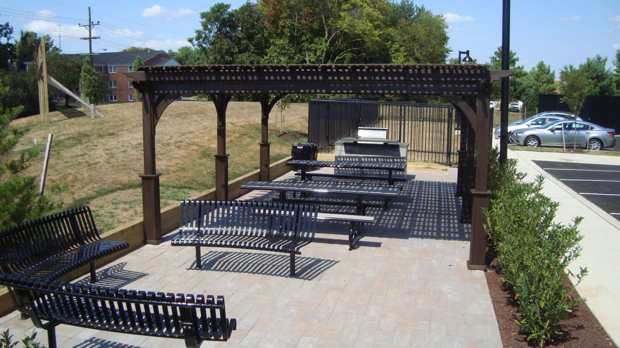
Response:
[[[228,201],[228,156],[226,154],[226,107],[230,94],[210,94],[218,113],[218,154],[215,157],[215,198]]]

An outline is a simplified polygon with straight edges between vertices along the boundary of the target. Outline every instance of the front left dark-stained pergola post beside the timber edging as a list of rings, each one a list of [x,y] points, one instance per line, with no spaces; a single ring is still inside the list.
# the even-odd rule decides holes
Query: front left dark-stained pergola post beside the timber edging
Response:
[[[142,143],[144,173],[142,178],[142,211],[144,217],[144,243],[157,245],[161,238],[161,206],[159,202],[159,176],[155,166],[156,95],[142,94]]]

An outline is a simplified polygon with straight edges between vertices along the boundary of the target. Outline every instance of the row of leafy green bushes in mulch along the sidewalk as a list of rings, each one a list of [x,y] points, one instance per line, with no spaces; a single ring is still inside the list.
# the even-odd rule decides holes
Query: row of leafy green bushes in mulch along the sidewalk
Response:
[[[542,194],[543,176],[528,183],[516,171],[516,162],[501,166],[496,149],[490,152],[489,186],[494,187],[487,215],[487,233],[497,253],[502,281],[518,305],[518,320],[528,339],[541,347],[562,334],[560,320],[580,302],[570,297],[575,286],[565,287],[565,274],[582,281],[587,269],[572,274],[567,266],[579,256],[582,240],[572,225],[553,222],[559,204]]]

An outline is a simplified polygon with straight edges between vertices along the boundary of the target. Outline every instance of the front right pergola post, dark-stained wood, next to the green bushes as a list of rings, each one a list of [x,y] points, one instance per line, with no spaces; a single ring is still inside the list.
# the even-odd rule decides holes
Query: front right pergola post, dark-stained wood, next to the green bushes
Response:
[[[486,271],[485,254],[487,246],[487,233],[484,225],[487,219],[482,212],[489,207],[491,191],[487,189],[487,171],[489,169],[489,132],[490,132],[490,88],[491,82],[480,82],[480,90],[477,97],[478,131],[476,136],[477,144],[477,168],[476,168],[476,189],[472,189],[474,196],[474,207],[471,222],[471,241],[469,243],[468,269]]]

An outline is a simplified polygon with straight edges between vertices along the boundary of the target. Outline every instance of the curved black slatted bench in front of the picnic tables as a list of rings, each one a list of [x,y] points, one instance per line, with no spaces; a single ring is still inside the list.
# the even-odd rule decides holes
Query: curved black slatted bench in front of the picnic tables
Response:
[[[172,246],[241,248],[295,254],[314,238],[318,206],[259,201],[181,201],[179,234]]]

